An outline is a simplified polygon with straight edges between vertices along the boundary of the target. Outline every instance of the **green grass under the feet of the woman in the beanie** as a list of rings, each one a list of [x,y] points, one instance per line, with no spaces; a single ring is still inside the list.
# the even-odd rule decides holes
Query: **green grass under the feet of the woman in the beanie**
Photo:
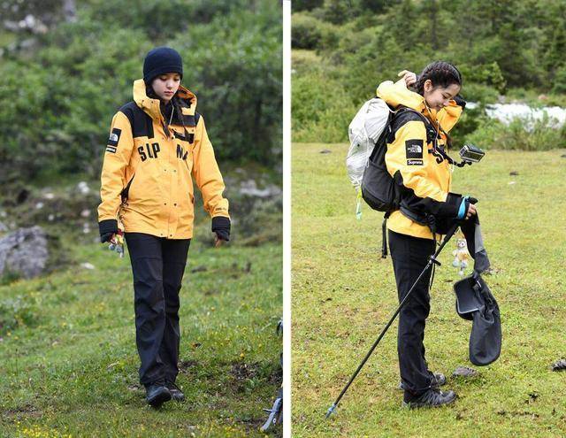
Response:
[[[280,244],[193,242],[180,309],[187,400],[159,411],[138,382],[127,255],[95,243],[69,250],[67,271],[0,287],[0,436],[263,435],[262,408],[281,381]]]

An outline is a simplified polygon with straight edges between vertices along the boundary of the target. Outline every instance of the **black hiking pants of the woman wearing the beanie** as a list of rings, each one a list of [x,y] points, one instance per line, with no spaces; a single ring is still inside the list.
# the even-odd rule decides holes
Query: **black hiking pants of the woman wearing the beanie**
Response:
[[[179,373],[179,291],[190,239],[126,233],[134,275],[135,342],[140,383],[175,381]]]

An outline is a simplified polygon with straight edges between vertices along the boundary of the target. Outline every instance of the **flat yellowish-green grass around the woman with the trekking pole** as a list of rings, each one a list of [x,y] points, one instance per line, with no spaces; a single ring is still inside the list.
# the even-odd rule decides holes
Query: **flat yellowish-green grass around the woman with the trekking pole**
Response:
[[[475,367],[470,380],[449,378],[455,404],[403,409],[395,322],[324,418],[397,306],[391,259],[380,258],[382,214],[364,204],[356,221],[347,150],[293,146],[293,436],[566,436],[566,373],[549,369],[566,354],[564,150],[490,150],[454,174],[453,191],[479,199],[493,266],[486,281],[501,308],[500,359]],[[440,257],[425,338],[429,365],[447,376],[471,365],[470,322],[455,312],[454,249],[448,243]]]

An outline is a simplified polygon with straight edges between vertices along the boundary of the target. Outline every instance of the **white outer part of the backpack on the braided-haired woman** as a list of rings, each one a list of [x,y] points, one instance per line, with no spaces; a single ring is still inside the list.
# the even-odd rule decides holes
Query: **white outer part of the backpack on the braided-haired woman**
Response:
[[[350,147],[346,156],[348,177],[356,188],[356,217],[362,217],[362,178],[371,152],[383,133],[392,112],[385,101],[374,97],[365,102],[348,126]]]

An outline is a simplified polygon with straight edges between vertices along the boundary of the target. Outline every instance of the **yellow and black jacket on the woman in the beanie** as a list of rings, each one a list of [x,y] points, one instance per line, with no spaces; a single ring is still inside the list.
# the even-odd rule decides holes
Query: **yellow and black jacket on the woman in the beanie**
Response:
[[[143,80],[134,81],[134,101],[114,115],[101,175],[101,234],[119,219],[127,233],[190,239],[195,218],[191,176],[210,217],[229,218],[224,181],[204,119],[195,111],[196,96],[182,86],[178,96],[187,104],[181,110],[186,129],[174,111],[167,127],[169,115],[165,121],[159,100],[146,95]]]

